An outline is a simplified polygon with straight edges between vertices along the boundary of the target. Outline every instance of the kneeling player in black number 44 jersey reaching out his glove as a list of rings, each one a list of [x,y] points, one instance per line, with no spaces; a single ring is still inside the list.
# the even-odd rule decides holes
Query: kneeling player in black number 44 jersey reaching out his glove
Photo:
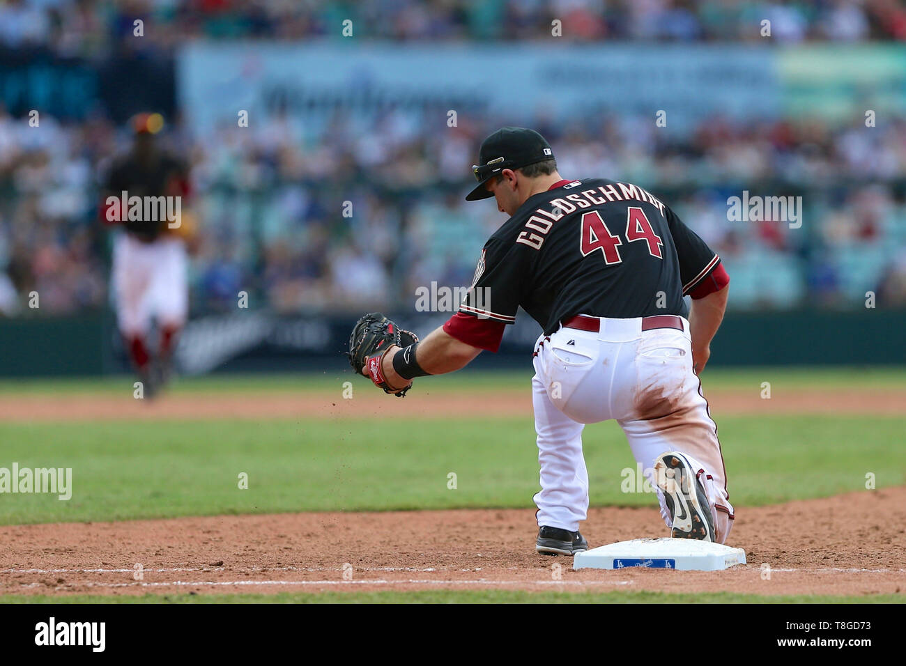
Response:
[[[724,543],[733,507],[698,377],[727,304],[720,257],[645,189],[562,178],[534,130],[497,130],[478,161],[467,200],[496,198],[509,219],[482,249],[458,313],[421,342],[381,314],[365,315],[352,332],[352,367],[402,396],[416,377],[496,352],[522,306],[544,329],[532,379],[536,550],[587,549],[582,431],[609,419],[658,488],[671,536]]]

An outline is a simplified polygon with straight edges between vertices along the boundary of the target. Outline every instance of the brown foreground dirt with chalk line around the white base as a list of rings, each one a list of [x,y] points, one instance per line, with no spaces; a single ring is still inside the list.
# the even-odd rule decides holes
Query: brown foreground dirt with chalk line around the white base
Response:
[[[571,558],[535,554],[529,509],[5,526],[0,594],[906,592],[906,487],[738,511],[730,545],[749,564],[722,572],[573,571]],[[593,546],[665,532],[654,507],[593,508],[583,525]]]

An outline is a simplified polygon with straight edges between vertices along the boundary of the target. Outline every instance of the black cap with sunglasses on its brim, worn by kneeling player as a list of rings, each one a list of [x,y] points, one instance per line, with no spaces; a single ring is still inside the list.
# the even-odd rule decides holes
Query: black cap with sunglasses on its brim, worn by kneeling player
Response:
[[[502,127],[481,142],[478,163],[472,173],[478,187],[468,193],[467,201],[493,197],[485,183],[503,169],[520,169],[529,164],[554,159],[554,151],[543,136],[525,127]]]

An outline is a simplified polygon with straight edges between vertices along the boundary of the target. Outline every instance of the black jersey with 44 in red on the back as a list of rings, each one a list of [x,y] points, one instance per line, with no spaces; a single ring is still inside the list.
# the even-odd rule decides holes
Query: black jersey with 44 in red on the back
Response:
[[[522,306],[546,334],[575,314],[688,316],[683,295],[717,254],[636,185],[561,183],[526,199],[488,239],[459,312],[513,323]]]

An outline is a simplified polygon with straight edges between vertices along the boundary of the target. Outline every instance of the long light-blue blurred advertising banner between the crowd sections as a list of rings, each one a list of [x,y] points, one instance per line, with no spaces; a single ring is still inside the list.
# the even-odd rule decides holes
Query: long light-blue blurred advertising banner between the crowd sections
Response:
[[[644,44],[395,45],[195,43],[178,60],[178,96],[193,130],[266,119],[285,109],[311,130],[334,111],[487,110],[510,122],[543,112],[667,111],[680,128],[716,111],[764,116],[779,109],[775,55],[765,47]]]

